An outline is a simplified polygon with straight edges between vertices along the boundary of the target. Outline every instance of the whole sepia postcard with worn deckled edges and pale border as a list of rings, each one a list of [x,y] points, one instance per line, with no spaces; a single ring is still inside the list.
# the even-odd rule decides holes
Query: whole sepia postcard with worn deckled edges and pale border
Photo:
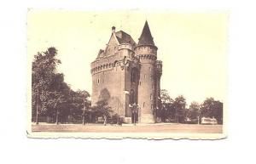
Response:
[[[227,137],[227,13],[27,10],[27,136]]]

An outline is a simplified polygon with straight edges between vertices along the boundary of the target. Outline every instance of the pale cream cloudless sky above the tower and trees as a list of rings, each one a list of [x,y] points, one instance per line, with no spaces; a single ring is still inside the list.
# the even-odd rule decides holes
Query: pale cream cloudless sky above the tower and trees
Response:
[[[171,11],[35,10],[27,13],[27,54],[49,47],[58,49],[58,71],[74,90],[91,93],[90,63],[104,49],[111,27],[125,31],[137,42],[148,20],[158,59],[163,61],[161,89],[172,99],[203,102],[227,96],[228,14]]]

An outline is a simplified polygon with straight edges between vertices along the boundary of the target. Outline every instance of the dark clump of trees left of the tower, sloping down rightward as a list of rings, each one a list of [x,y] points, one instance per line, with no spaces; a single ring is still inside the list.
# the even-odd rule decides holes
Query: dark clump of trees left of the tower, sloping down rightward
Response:
[[[34,56],[32,62],[32,117],[39,116],[55,117],[58,123],[72,116],[81,119],[84,107],[90,108],[87,99],[90,94],[86,91],[73,91],[66,82],[64,75],[56,72],[56,66],[61,64],[56,59],[57,50],[48,48],[43,53]],[[67,120],[67,119],[66,119]]]

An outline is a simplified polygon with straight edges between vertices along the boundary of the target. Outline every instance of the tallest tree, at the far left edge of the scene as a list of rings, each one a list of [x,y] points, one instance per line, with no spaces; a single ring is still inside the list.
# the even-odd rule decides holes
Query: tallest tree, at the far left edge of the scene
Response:
[[[35,55],[32,62],[32,114],[36,115],[37,124],[38,115],[47,111],[49,86],[54,80],[56,65],[61,64],[61,60],[55,59],[56,55],[55,48],[48,48]]]

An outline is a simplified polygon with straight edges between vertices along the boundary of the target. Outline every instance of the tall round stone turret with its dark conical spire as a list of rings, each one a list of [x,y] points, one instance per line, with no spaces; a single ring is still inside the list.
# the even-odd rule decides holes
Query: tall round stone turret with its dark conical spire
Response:
[[[138,103],[141,108],[140,122],[155,122],[156,110],[159,107],[159,78],[156,75],[157,47],[146,21],[135,54],[140,59],[140,80],[138,86]]]

